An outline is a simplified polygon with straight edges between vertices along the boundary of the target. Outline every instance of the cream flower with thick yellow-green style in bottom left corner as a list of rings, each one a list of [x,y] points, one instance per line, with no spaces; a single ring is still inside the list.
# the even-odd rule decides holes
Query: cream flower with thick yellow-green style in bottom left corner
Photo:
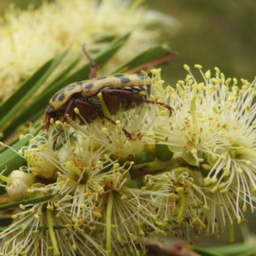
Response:
[[[0,234],[1,253],[77,255],[90,252],[90,247],[99,247],[90,234],[72,222],[70,215],[70,205],[61,205],[58,196],[47,202],[20,205],[20,212],[12,216],[13,224]],[[81,235],[85,243],[81,241]]]

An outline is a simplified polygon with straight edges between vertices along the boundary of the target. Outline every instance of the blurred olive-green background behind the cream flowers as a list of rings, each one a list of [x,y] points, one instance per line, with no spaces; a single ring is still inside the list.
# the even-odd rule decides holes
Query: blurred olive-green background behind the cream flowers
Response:
[[[3,15],[10,3],[15,3],[20,9],[26,9],[28,4],[33,3],[38,7],[42,1],[2,0],[0,15]],[[256,3],[254,1],[148,0],[145,4],[148,5],[148,9],[172,15],[180,24],[172,36],[166,35],[163,40],[171,49],[178,52],[169,64],[163,66],[162,77],[168,84],[174,85],[177,80],[185,78],[187,73],[183,69],[183,64],[188,64],[190,67],[201,64],[204,71],[211,69],[212,72],[213,67],[219,67],[226,78],[236,77],[236,79],[253,81],[256,76]],[[256,233],[253,222],[251,219],[250,231],[254,230]],[[229,227],[227,233],[228,230]],[[202,231],[201,237],[203,236]],[[193,235],[190,238],[193,241]],[[236,241],[243,240],[240,228],[237,228],[235,238]],[[228,243],[229,236],[224,236],[224,240],[221,241]],[[220,242],[208,238],[200,239],[197,245],[219,244]]]

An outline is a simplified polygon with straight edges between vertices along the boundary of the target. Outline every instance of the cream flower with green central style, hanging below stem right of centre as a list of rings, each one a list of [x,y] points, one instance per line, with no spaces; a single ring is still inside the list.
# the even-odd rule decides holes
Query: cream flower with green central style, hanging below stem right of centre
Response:
[[[193,228],[195,234],[205,228],[201,212],[208,209],[207,189],[196,185],[198,172],[180,167],[158,175],[147,175],[143,190],[151,193],[155,206],[155,218],[161,219],[164,227],[174,233],[183,226]],[[174,229],[175,228],[175,229]]]

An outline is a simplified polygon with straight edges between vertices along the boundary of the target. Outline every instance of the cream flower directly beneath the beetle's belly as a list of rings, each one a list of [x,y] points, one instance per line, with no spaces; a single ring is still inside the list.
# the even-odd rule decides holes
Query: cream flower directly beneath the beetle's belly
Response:
[[[77,140],[82,137],[90,137],[98,145],[105,149],[106,154],[113,154],[118,158],[125,159],[133,154],[143,151],[144,142],[142,128],[148,127],[148,106],[144,104],[134,109],[120,110],[113,116],[116,125],[107,119],[96,119],[91,124],[79,125],[71,121],[74,131],[77,131]],[[129,132],[131,138],[124,131]]]

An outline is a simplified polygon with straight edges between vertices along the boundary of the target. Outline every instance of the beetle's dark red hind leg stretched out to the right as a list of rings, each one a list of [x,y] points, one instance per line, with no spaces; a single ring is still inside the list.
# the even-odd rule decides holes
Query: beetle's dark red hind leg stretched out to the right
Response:
[[[172,115],[172,111],[174,111],[172,107],[170,107],[169,105],[166,105],[166,103],[164,103],[164,102],[154,102],[154,101],[150,101],[150,100],[145,100],[143,98],[143,96],[141,96],[140,94],[135,94],[131,91],[114,90],[114,89],[105,89],[105,90],[103,90],[104,99],[105,98],[106,99],[113,98],[113,96],[119,96],[120,98],[125,98],[127,100],[132,101],[132,102],[136,102],[137,104],[145,102],[145,103],[157,104],[157,105],[163,106],[163,107],[167,108],[170,111],[169,117]],[[109,100],[105,101],[107,106],[108,106],[108,103],[112,104],[112,102],[114,102],[114,101],[109,101]],[[109,106],[109,108],[112,109],[111,106]],[[112,114],[114,114],[114,113],[112,113]]]

